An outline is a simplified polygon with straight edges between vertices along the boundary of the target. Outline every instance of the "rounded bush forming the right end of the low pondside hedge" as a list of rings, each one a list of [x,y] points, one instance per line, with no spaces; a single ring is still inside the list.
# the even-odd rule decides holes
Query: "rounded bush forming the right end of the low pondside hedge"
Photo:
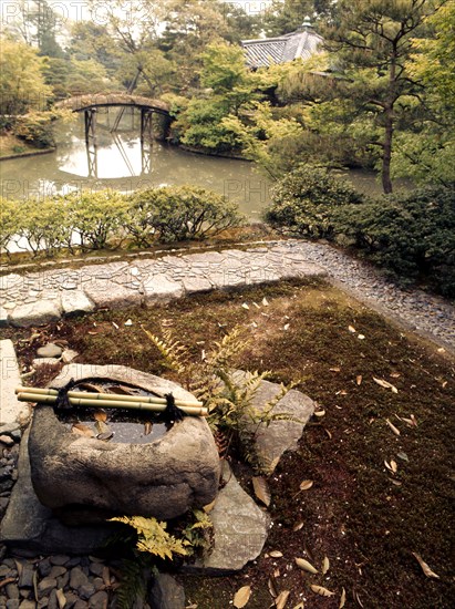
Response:
[[[204,239],[242,224],[235,203],[196,186],[166,186],[137,190],[130,199],[126,228],[135,241]]]

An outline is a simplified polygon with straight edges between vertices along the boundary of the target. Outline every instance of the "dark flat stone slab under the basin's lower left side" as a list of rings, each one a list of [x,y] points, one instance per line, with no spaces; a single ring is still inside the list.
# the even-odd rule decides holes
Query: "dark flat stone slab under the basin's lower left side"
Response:
[[[33,491],[28,440],[29,430],[21,441],[19,477],[1,523],[0,540],[19,553],[81,555],[95,551],[115,531],[115,525],[74,529],[64,526],[51,509],[44,507]]]

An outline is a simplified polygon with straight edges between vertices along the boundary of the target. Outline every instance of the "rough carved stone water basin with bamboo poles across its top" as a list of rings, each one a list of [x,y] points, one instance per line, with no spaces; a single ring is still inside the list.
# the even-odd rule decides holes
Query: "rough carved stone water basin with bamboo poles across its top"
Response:
[[[108,380],[194,400],[176,383],[121,365],[70,364],[50,385],[64,386],[71,379]],[[197,416],[186,416],[149,443],[118,443],[76,435],[52,406],[39,405],[29,454],[38,498],[70,524],[114,515],[170,519],[211,503],[218,491],[218,452],[207,422]]]

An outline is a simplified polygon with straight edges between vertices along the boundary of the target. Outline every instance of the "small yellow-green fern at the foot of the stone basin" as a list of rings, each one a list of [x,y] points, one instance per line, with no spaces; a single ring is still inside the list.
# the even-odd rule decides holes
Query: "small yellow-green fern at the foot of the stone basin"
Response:
[[[159,558],[173,559],[173,554],[188,555],[185,545],[186,540],[177,539],[166,530],[166,523],[158,523],[156,518],[144,518],[143,516],[120,516],[111,518],[136,529],[136,548]]]

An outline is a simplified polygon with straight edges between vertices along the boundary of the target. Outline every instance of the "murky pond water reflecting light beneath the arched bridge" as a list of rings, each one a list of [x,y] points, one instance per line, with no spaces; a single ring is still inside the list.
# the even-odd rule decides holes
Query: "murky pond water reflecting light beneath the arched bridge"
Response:
[[[108,131],[112,120],[112,111],[111,115],[100,113],[96,154],[86,149],[83,116],[79,115],[70,124],[58,125],[55,152],[2,161],[1,194],[41,198],[81,188],[128,193],[139,187],[192,184],[225,195],[251,220],[260,219],[270,202],[270,180],[254,163],[195,154],[158,142],[142,147],[136,115],[125,112],[116,134]],[[372,172],[352,169],[344,175],[362,192],[381,193]]]

